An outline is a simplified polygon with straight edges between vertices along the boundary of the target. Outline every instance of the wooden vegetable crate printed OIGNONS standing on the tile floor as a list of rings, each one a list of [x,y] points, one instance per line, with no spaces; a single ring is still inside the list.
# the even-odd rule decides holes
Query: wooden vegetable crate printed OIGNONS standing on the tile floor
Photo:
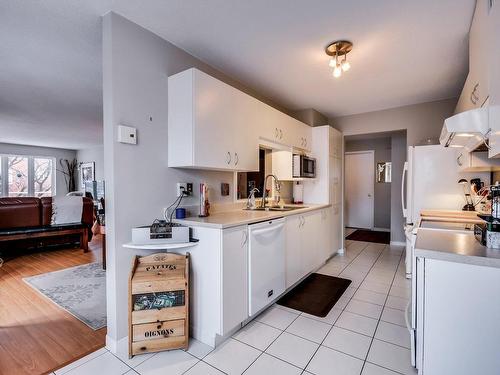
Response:
[[[176,292],[179,306],[134,310],[135,300]],[[182,300],[183,294],[183,300]],[[129,356],[187,349],[189,340],[189,254],[136,256],[129,278]]]

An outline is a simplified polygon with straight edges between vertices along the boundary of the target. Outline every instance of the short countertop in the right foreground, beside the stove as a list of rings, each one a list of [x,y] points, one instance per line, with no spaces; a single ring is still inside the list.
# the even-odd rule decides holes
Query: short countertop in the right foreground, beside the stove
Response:
[[[500,250],[481,245],[473,233],[419,229],[415,256],[500,268]]]

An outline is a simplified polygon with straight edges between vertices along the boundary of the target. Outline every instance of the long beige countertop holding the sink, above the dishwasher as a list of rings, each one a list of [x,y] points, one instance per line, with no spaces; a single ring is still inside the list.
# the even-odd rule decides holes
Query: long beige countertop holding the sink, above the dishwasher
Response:
[[[298,206],[303,208],[291,211],[251,211],[240,208],[232,211],[215,213],[208,217],[192,216],[185,219],[175,219],[174,222],[194,227],[225,229],[237,227],[239,225],[253,224],[260,221],[277,219],[285,216],[304,214],[310,211],[320,210],[322,208],[330,206],[331,205],[329,204],[306,204]]]

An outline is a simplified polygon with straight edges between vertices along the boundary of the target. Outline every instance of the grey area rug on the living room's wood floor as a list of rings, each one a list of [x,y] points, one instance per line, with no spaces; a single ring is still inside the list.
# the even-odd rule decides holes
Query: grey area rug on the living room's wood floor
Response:
[[[93,330],[106,327],[106,271],[89,263],[23,279]]]

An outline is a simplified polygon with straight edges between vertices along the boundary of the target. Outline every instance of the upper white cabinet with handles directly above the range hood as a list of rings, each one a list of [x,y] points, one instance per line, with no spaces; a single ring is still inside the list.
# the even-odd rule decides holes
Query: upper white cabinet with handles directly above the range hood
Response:
[[[469,33],[469,74],[455,113],[479,108],[488,98],[489,13],[489,1],[478,0]]]

